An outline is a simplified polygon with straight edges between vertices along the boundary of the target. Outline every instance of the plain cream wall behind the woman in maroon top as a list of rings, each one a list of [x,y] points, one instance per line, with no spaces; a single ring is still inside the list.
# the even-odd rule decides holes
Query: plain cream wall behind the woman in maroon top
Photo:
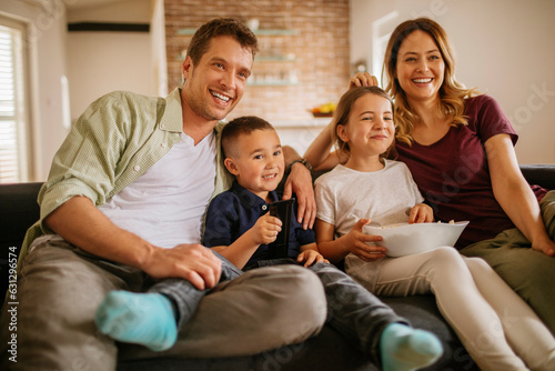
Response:
[[[426,16],[446,30],[456,76],[494,97],[518,132],[521,163],[555,163],[555,1],[351,0],[351,59],[372,60],[372,24]]]

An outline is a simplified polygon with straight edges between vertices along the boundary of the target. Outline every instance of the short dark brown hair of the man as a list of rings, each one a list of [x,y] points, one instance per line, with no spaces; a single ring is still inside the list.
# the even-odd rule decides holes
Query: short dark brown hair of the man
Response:
[[[235,18],[216,18],[201,26],[191,39],[186,53],[194,64],[204,56],[210,41],[220,36],[233,37],[243,48],[251,50],[252,58],[259,50],[256,37],[243,22]]]

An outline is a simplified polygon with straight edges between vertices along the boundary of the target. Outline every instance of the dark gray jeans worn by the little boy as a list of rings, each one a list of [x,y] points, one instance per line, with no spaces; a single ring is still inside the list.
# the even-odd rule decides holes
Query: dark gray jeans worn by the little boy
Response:
[[[222,260],[221,281],[233,280],[243,274],[225,258],[218,255]],[[254,264],[254,267],[251,265],[244,274],[266,270],[270,267],[300,268],[292,259],[263,260]],[[345,335],[356,349],[369,354],[373,362],[380,364],[380,338],[383,330],[393,322],[407,322],[334,265],[316,263],[305,269],[305,271],[314,272],[324,288],[327,303],[326,323]],[[180,325],[188,323],[189,319],[194,314],[198,303],[201,302],[205,294],[210,293],[210,290],[200,291],[189,281],[178,279],[163,280],[149,291],[163,293],[175,303]],[[294,311],[299,309],[284,308],[283,310],[294,315]]]

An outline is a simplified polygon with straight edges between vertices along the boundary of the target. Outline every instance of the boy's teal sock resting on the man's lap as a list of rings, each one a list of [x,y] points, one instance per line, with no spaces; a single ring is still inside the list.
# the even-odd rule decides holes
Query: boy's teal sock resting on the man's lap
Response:
[[[172,303],[160,293],[111,291],[97,309],[94,320],[107,335],[154,351],[171,348],[178,339]]]

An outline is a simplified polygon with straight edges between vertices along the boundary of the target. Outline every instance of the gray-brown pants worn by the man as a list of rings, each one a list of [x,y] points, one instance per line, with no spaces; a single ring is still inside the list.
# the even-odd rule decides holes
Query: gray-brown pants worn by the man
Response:
[[[295,265],[270,267],[213,289],[169,351],[118,349],[97,330],[98,305],[111,290],[139,292],[152,283],[138,269],[99,259],[56,235],[41,238],[19,272],[18,303],[10,305],[8,300],[2,308],[0,369],[104,371],[115,370],[118,358],[254,354],[307,339],[327,315],[324,290],[314,273]],[[9,325],[10,309],[17,311],[17,329]],[[6,352],[14,334],[17,363]]]

